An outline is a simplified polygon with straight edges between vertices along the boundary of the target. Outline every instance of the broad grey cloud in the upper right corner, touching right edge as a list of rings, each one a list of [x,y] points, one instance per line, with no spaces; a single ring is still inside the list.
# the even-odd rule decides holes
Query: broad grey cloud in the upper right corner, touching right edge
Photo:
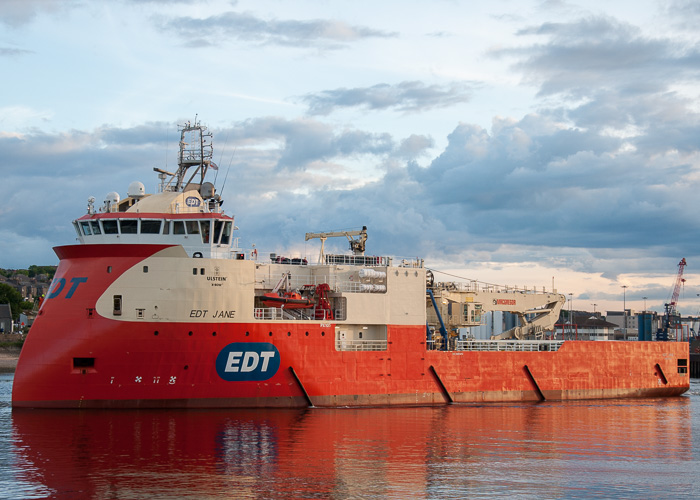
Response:
[[[607,17],[545,23],[518,34],[549,40],[493,55],[518,59],[515,68],[539,85],[541,96],[561,93],[582,98],[605,88],[626,94],[661,92],[671,83],[696,78],[700,71],[697,45],[647,37],[638,28]]]

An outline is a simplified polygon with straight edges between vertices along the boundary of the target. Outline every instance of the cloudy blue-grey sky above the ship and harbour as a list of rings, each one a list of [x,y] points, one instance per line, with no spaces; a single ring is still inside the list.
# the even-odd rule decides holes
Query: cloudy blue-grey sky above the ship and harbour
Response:
[[[311,260],[305,232],[366,225],[369,254],[598,311],[661,310],[685,257],[696,314],[699,24],[692,0],[3,0],[0,267],[57,263],[89,196],[152,192],[198,116],[242,248]]]

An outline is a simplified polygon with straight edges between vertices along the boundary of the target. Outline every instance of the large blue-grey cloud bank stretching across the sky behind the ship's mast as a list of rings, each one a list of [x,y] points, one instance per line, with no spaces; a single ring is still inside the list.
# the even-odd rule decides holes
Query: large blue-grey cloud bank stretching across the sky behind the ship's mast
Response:
[[[427,167],[405,163],[433,147],[425,136],[397,140],[275,117],[214,133],[219,175],[227,179],[224,206],[236,214],[242,244],[261,251],[299,244],[309,230],[367,225],[374,254],[564,260],[612,277],[633,268],[633,261],[621,264],[630,255],[621,249],[639,248],[636,255],[649,253],[654,262],[697,254],[700,181],[691,166],[666,158],[660,170],[654,155],[563,128],[556,114],[497,121],[490,131],[460,124]],[[173,125],[147,123],[0,137],[3,161],[23,166],[0,185],[3,210],[11,211],[2,214],[3,230],[30,237],[40,228],[47,241],[70,241],[69,221],[83,213],[87,196],[101,200],[134,180],[152,191],[151,167],[165,166],[166,149],[174,164],[174,135]],[[375,168],[376,181],[358,184],[343,171],[358,155]],[[24,210],[28,199],[41,199],[41,210]]]

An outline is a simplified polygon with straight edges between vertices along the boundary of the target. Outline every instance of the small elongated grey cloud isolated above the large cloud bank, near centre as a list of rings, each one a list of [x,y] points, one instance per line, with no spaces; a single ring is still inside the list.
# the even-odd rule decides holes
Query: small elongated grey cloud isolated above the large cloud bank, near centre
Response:
[[[425,85],[407,81],[396,85],[381,83],[372,87],[340,88],[307,94],[301,98],[312,115],[328,115],[338,108],[361,107],[371,110],[395,109],[415,112],[445,108],[471,99],[472,86],[465,82]]]

